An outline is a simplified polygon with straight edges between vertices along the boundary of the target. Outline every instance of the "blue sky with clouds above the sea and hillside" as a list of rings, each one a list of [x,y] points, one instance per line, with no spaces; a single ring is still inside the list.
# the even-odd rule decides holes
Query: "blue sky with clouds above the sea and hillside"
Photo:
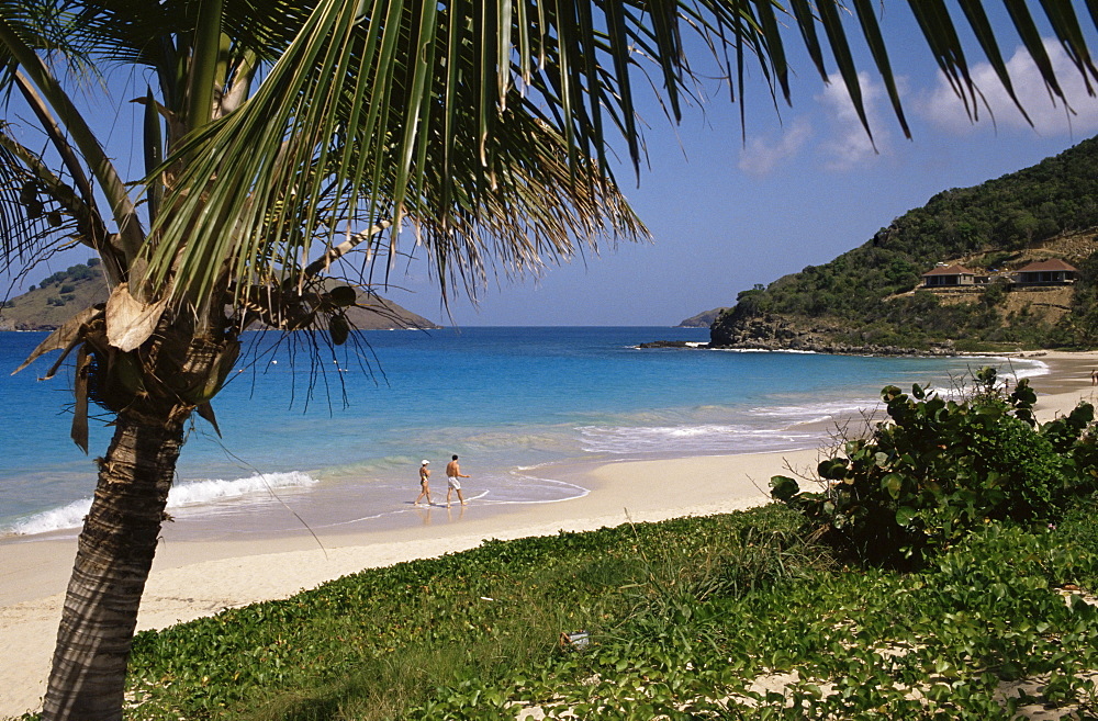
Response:
[[[1077,11],[1085,14],[1082,3]],[[382,293],[458,326],[671,326],[732,304],[739,291],[755,283],[770,283],[861,245],[942,190],[1019,170],[1098,133],[1098,101],[1087,97],[1064,53],[1047,43],[1076,113],[1072,116],[1050,101],[1032,61],[1015,49],[1013,31],[1001,19],[1004,52],[1034,126],[1006,99],[986,64],[976,64],[974,75],[994,123],[983,109],[979,122],[970,123],[908,12],[889,4],[882,25],[914,139],[904,138],[864,57],[862,88],[872,145],[841,83],[825,86],[795,56],[792,108],[775,111],[765,87],[749,82],[746,142],[739,109],[717,82],[702,88],[709,101],[688,109],[677,127],[654,104],[642,111],[650,125],[650,169],[639,187],[627,165],[618,178],[652,243],[585,252],[547,268],[537,279],[507,280],[505,270],[496,269],[500,280],[480,293],[479,303],[457,298],[450,317],[421,260],[399,267],[392,288]],[[27,282],[87,255],[75,251],[43,264]],[[937,260],[927,259],[928,267]]]

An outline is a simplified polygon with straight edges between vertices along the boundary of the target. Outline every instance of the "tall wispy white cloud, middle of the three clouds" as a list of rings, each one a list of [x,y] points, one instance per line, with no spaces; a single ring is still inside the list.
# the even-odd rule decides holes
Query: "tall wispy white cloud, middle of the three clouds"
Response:
[[[885,128],[886,122],[877,108],[878,101],[885,97],[884,88],[873,82],[867,72],[859,72],[858,81],[862,90],[862,104],[873,129],[873,138],[866,134],[862,121],[854,110],[854,104],[847,92],[842,77],[831,74],[824,92],[817,95],[824,110],[831,120],[834,134],[820,145],[825,155],[825,167],[828,170],[850,170],[875,159],[878,153],[884,153],[890,139],[890,133]],[[876,148],[874,149],[874,144]]]

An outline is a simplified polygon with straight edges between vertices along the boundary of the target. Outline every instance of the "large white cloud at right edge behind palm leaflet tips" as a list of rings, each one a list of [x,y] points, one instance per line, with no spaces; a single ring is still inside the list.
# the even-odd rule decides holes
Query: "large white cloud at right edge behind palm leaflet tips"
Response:
[[[1098,132],[1098,99],[1087,94],[1079,71],[1056,41],[1046,38],[1044,47],[1056,70],[1064,94],[1076,114],[1068,113],[1062,102],[1052,101],[1033,59],[1024,48],[1019,47],[1007,60],[1007,71],[1010,74],[1018,99],[1033,121],[1033,129],[1045,137],[1086,136]],[[938,86],[920,105],[922,115],[952,133],[970,133],[978,126],[990,127],[993,117],[995,126],[999,129],[1029,128],[1026,119],[1015,106],[988,63],[974,66],[972,77],[984,93],[987,105],[990,106],[991,117],[988,117],[987,108],[981,104],[977,109],[978,125],[971,123],[964,105],[941,74],[938,76]]]

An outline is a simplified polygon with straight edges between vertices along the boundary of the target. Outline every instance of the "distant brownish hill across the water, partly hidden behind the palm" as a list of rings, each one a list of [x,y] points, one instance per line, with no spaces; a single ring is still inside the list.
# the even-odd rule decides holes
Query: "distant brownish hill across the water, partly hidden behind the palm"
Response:
[[[2,296],[0,296],[2,300]],[[0,330],[53,330],[79,311],[107,302],[107,280],[98,258],[59,270],[23,295],[0,307]],[[421,315],[377,295],[358,293],[358,306],[347,309],[355,328],[438,328]]]

